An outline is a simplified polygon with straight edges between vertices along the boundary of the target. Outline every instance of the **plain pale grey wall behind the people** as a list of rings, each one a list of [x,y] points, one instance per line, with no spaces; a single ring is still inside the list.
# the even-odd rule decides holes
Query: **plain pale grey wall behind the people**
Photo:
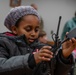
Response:
[[[22,0],[21,5],[30,5],[31,3],[38,5],[38,12],[44,20],[44,30],[47,32],[49,40],[51,40],[51,30],[56,33],[59,16],[62,16],[60,37],[65,22],[74,16],[76,10],[76,0]],[[10,9],[9,0],[0,0],[0,32],[7,31],[3,21]]]

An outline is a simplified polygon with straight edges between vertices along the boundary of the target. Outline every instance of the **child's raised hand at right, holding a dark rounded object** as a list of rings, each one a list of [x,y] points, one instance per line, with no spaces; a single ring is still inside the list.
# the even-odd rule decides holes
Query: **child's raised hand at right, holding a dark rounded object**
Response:
[[[76,48],[76,39],[72,38],[62,44],[62,54],[65,58],[67,58],[72,51]]]

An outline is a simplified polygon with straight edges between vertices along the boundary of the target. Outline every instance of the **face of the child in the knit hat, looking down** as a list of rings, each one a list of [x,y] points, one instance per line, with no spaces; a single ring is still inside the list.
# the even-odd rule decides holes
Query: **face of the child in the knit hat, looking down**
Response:
[[[34,15],[27,15],[23,17],[23,20],[19,23],[19,26],[15,29],[16,35],[25,34],[29,43],[34,42],[38,38],[40,31],[39,20]]]

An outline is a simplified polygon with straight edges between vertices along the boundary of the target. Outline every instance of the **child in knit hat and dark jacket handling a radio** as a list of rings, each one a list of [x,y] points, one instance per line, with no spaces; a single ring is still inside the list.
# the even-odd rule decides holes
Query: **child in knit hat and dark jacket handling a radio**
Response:
[[[74,38],[53,58],[51,46],[39,47],[40,16],[31,6],[13,8],[4,25],[11,32],[0,34],[0,75],[67,75],[73,64]]]

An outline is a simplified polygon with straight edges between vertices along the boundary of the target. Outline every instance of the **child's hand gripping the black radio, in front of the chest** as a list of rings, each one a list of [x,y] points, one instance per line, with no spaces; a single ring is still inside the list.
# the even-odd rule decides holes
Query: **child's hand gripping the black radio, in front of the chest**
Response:
[[[50,61],[50,59],[53,57],[53,52],[51,52],[50,49],[50,46],[44,46],[34,54],[36,64],[41,61]]]

